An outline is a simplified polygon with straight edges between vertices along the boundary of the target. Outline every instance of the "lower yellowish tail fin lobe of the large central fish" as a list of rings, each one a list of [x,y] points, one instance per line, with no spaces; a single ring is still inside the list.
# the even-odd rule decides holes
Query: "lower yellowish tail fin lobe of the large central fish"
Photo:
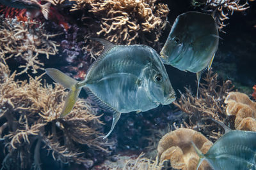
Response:
[[[65,101],[64,108],[61,111],[60,118],[65,117],[66,115],[68,115],[68,113],[70,113],[70,111],[72,111],[74,105],[76,104],[80,91],[81,87],[77,87],[77,85],[74,85],[70,89]]]

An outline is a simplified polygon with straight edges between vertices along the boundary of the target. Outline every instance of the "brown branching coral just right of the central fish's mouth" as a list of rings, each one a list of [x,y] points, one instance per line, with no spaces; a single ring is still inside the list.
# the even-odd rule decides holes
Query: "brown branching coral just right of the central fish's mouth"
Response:
[[[203,134],[209,135],[210,138],[216,140],[220,137],[221,130],[215,124],[204,125],[203,122],[207,121],[207,118],[214,118],[225,123],[228,122],[227,115],[225,114],[224,100],[227,93],[234,89],[234,87],[231,85],[230,80],[223,81],[222,85],[220,85],[218,74],[212,74],[211,70],[207,73],[204,80],[206,84],[200,83],[200,97],[198,99],[196,99],[190,89],[186,88],[186,94],[181,94],[180,99],[173,104],[189,114],[189,121],[184,122],[185,127],[191,127],[191,129],[199,128]]]

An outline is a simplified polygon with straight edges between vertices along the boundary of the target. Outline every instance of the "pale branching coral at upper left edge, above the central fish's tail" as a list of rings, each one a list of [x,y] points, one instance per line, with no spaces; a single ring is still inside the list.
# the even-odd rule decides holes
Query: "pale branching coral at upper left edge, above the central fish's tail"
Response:
[[[9,59],[10,57],[20,57],[26,63],[20,64],[24,68],[19,74],[27,73],[32,69],[36,73],[37,69],[42,69],[44,64],[38,60],[40,54],[55,55],[57,44],[51,41],[54,34],[47,34],[44,25],[40,22],[29,20],[28,22],[18,22],[17,19],[0,17],[0,57]]]

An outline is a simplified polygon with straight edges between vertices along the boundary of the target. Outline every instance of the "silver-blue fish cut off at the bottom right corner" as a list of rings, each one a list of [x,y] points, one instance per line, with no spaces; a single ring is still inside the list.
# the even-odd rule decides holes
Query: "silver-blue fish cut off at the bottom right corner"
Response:
[[[218,139],[205,154],[194,145],[200,157],[198,167],[205,159],[214,169],[256,169],[255,141],[256,132],[230,131]]]

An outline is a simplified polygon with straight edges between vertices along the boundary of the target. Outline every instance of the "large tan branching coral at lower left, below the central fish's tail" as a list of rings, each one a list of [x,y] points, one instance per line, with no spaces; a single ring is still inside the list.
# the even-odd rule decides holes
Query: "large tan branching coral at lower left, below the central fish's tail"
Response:
[[[61,162],[93,166],[108,153],[110,145],[98,138],[102,122],[95,108],[79,99],[70,115],[58,118],[67,92],[57,84],[42,85],[41,77],[15,81],[15,73],[10,74],[0,62],[0,137],[6,150],[3,166],[29,169],[33,164],[40,168],[40,145]]]

